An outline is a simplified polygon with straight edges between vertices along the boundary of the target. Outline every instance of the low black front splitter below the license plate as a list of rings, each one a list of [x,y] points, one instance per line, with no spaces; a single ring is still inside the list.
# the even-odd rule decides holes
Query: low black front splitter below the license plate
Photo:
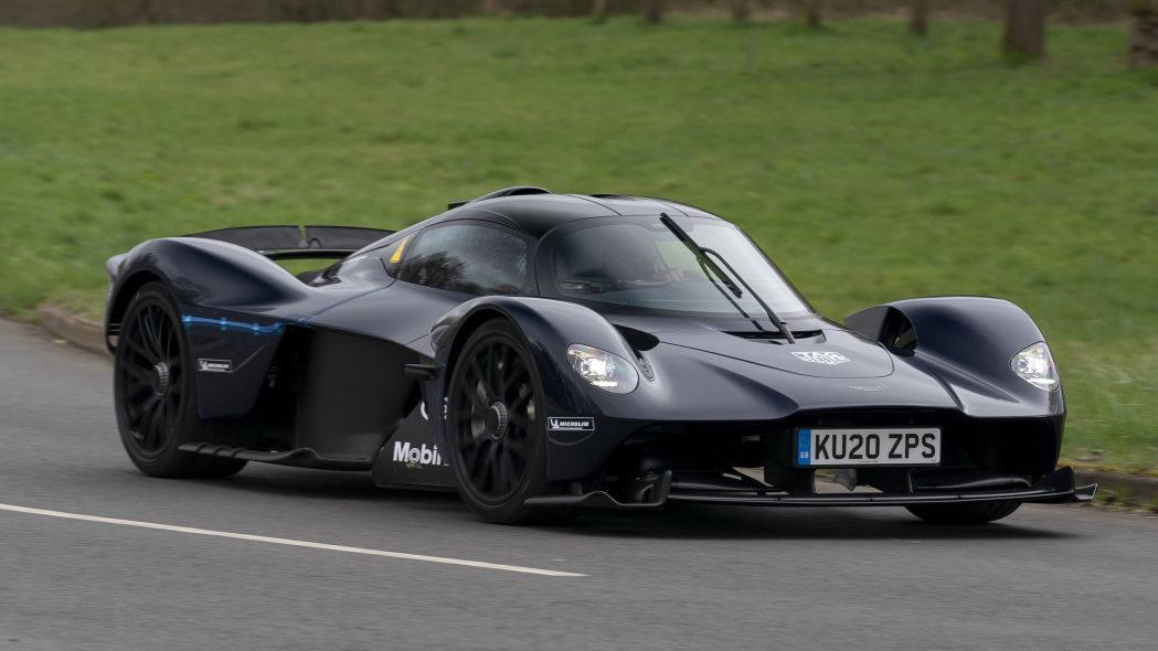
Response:
[[[975,491],[917,491],[917,492],[786,492],[776,488],[757,485],[727,490],[688,490],[673,482],[672,473],[665,473],[642,502],[620,502],[606,491],[584,495],[542,496],[527,500],[528,504],[551,506],[574,506],[580,509],[648,510],[662,509],[672,502],[701,504],[730,504],[735,506],[908,506],[917,504],[960,504],[967,502],[1018,502],[1040,504],[1083,503],[1093,499],[1098,484],[1077,485],[1072,468],[1060,468],[1028,488],[991,489]]]

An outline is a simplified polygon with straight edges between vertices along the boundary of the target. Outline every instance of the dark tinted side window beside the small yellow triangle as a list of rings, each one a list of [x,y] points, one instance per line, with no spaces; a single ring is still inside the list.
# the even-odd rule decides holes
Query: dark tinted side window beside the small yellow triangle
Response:
[[[435,226],[400,247],[398,278],[479,297],[527,295],[533,293],[528,248],[526,240],[498,227]]]

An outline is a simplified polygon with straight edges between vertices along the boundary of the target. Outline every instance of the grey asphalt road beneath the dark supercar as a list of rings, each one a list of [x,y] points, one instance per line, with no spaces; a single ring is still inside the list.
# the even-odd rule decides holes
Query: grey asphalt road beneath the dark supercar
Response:
[[[47,511],[0,509],[0,649],[1158,646],[1155,518],[695,507],[516,528],[365,474],[152,480],[120,448],[110,372],[0,321],[0,504]]]

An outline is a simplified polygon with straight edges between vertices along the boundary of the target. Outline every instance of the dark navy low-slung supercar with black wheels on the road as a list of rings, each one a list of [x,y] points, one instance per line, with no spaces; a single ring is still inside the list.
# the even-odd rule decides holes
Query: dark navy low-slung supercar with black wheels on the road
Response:
[[[368,470],[497,522],[672,502],[982,522],[1094,491],[1056,469],[1062,388],[1017,306],[841,326],[675,202],[510,188],[400,232],[228,228],[108,270],[117,420],[147,475]]]

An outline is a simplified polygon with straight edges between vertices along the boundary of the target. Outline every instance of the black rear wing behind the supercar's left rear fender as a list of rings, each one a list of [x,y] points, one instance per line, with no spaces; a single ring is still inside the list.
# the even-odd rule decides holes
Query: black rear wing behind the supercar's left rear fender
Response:
[[[241,226],[192,233],[255,250],[270,259],[340,258],[374,243],[394,231],[360,226]]]

